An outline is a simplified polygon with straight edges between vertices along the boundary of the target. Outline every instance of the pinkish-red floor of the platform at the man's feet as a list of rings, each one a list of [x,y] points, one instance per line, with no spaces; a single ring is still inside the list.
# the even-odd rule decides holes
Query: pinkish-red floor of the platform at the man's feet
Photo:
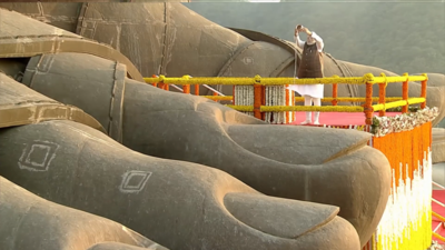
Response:
[[[400,112],[386,112],[387,117],[395,117],[400,114]],[[295,121],[291,124],[299,124],[306,120],[306,112],[295,112]],[[312,114],[314,116],[314,113]],[[378,117],[378,112],[374,113]],[[314,121],[314,117],[313,117]],[[365,113],[363,112],[320,112],[319,116],[320,126],[364,126],[365,124]],[[313,124],[309,124],[313,126]]]

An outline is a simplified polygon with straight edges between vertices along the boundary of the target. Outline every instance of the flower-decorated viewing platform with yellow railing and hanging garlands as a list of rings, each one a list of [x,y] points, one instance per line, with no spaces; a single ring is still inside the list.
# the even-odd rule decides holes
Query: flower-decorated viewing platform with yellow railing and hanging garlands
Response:
[[[273,124],[299,126],[306,111],[319,111],[316,127],[355,129],[372,133],[368,144],[382,151],[389,161],[392,187],[384,216],[364,250],[425,250],[433,239],[445,242],[445,212],[441,196],[444,190],[434,190],[432,180],[432,121],[437,117],[435,107],[426,107],[427,76],[374,77],[316,79],[294,78],[145,78],[147,83],[168,90],[177,88],[190,94],[199,94],[199,86],[214,92],[206,98],[226,101],[235,110],[254,116]],[[422,82],[419,97],[408,97],[408,82]],[[386,87],[402,82],[402,97],[386,97]],[[338,97],[338,84],[365,84],[366,97]],[[210,86],[234,86],[233,96],[224,96]],[[333,84],[329,98],[322,99],[322,107],[298,106],[301,97],[295,97],[289,84]],[[178,86],[182,86],[179,88]],[[374,97],[373,86],[378,86]],[[362,106],[339,106],[359,102]],[[330,103],[330,104],[326,104]],[[415,106],[415,107],[413,107]],[[387,112],[390,109],[399,109]],[[412,110],[411,110],[412,109]],[[314,124],[308,124],[314,126]],[[433,202],[433,204],[432,204]],[[433,210],[434,209],[434,210]]]

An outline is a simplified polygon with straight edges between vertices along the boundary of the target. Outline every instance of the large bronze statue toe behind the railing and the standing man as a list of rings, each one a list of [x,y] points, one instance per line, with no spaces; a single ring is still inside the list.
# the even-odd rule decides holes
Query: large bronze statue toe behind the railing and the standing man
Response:
[[[110,44],[145,77],[294,77],[301,50],[261,32],[220,27],[178,2],[159,3],[2,3],[37,20]],[[395,73],[335,59],[325,53],[324,76],[362,77]],[[443,76],[443,74],[439,74]],[[438,107],[437,124],[445,117],[445,82],[429,82],[427,106]],[[433,88],[433,86],[442,88]],[[378,86],[374,86],[378,97]],[[231,94],[231,87],[218,88]],[[409,83],[409,97],[421,96],[418,82]],[[201,91],[204,92],[204,91]],[[387,97],[402,97],[402,83],[389,84]],[[332,96],[332,86],[325,87]],[[338,97],[365,97],[365,87],[339,84]],[[342,103],[360,104],[360,103]]]

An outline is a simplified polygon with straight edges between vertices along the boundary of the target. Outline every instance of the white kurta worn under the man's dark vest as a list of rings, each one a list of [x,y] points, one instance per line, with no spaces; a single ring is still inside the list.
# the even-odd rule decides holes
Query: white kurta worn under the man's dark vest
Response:
[[[320,37],[318,37],[318,34],[316,34],[315,32],[313,32],[312,39],[309,38],[307,42],[308,42],[308,44],[314,44],[314,42],[316,42],[318,52],[322,52],[323,47],[325,46],[323,43],[323,39]],[[301,49],[305,47],[305,42],[299,39],[298,34],[295,36],[295,43],[297,43],[297,46]],[[324,84],[306,84],[306,86],[291,84],[287,89],[298,92],[301,97],[309,96],[313,98],[323,98],[325,86]]]

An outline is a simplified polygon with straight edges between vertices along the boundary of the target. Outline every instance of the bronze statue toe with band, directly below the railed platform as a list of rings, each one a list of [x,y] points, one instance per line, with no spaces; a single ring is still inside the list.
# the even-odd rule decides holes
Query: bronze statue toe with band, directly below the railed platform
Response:
[[[125,70],[106,59],[76,53],[42,57],[30,60],[23,83],[83,109],[112,128],[108,133],[130,149],[224,170],[269,196],[338,206],[362,244],[383,216],[389,163],[366,146],[368,133],[270,126],[205,98],[127,79]],[[38,62],[46,67],[44,74],[34,74],[41,71]],[[76,72],[85,73],[76,80]],[[125,91],[113,98],[96,94],[113,89]],[[110,100],[118,104],[110,107]],[[112,120],[110,110],[116,112]]]

